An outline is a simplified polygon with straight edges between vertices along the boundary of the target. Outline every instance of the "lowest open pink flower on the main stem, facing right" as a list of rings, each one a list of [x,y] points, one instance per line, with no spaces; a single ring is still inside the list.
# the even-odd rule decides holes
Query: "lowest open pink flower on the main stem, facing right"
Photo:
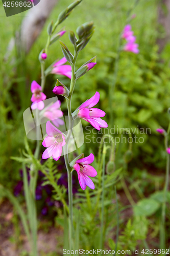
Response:
[[[88,157],[81,158],[76,161],[74,165],[74,169],[76,170],[78,174],[78,179],[81,188],[84,190],[87,186],[91,189],[94,189],[94,183],[92,180],[88,177],[95,177],[98,173],[96,170],[89,165],[94,161],[94,155],[90,154]]]

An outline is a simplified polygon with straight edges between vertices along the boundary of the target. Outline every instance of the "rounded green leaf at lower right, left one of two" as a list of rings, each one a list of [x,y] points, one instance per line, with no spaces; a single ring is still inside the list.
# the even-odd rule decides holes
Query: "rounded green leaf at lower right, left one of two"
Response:
[[[151,216],[153,215],[160,207],[160,204],[152,199],[142,199],[134,207],[135,216]]]

